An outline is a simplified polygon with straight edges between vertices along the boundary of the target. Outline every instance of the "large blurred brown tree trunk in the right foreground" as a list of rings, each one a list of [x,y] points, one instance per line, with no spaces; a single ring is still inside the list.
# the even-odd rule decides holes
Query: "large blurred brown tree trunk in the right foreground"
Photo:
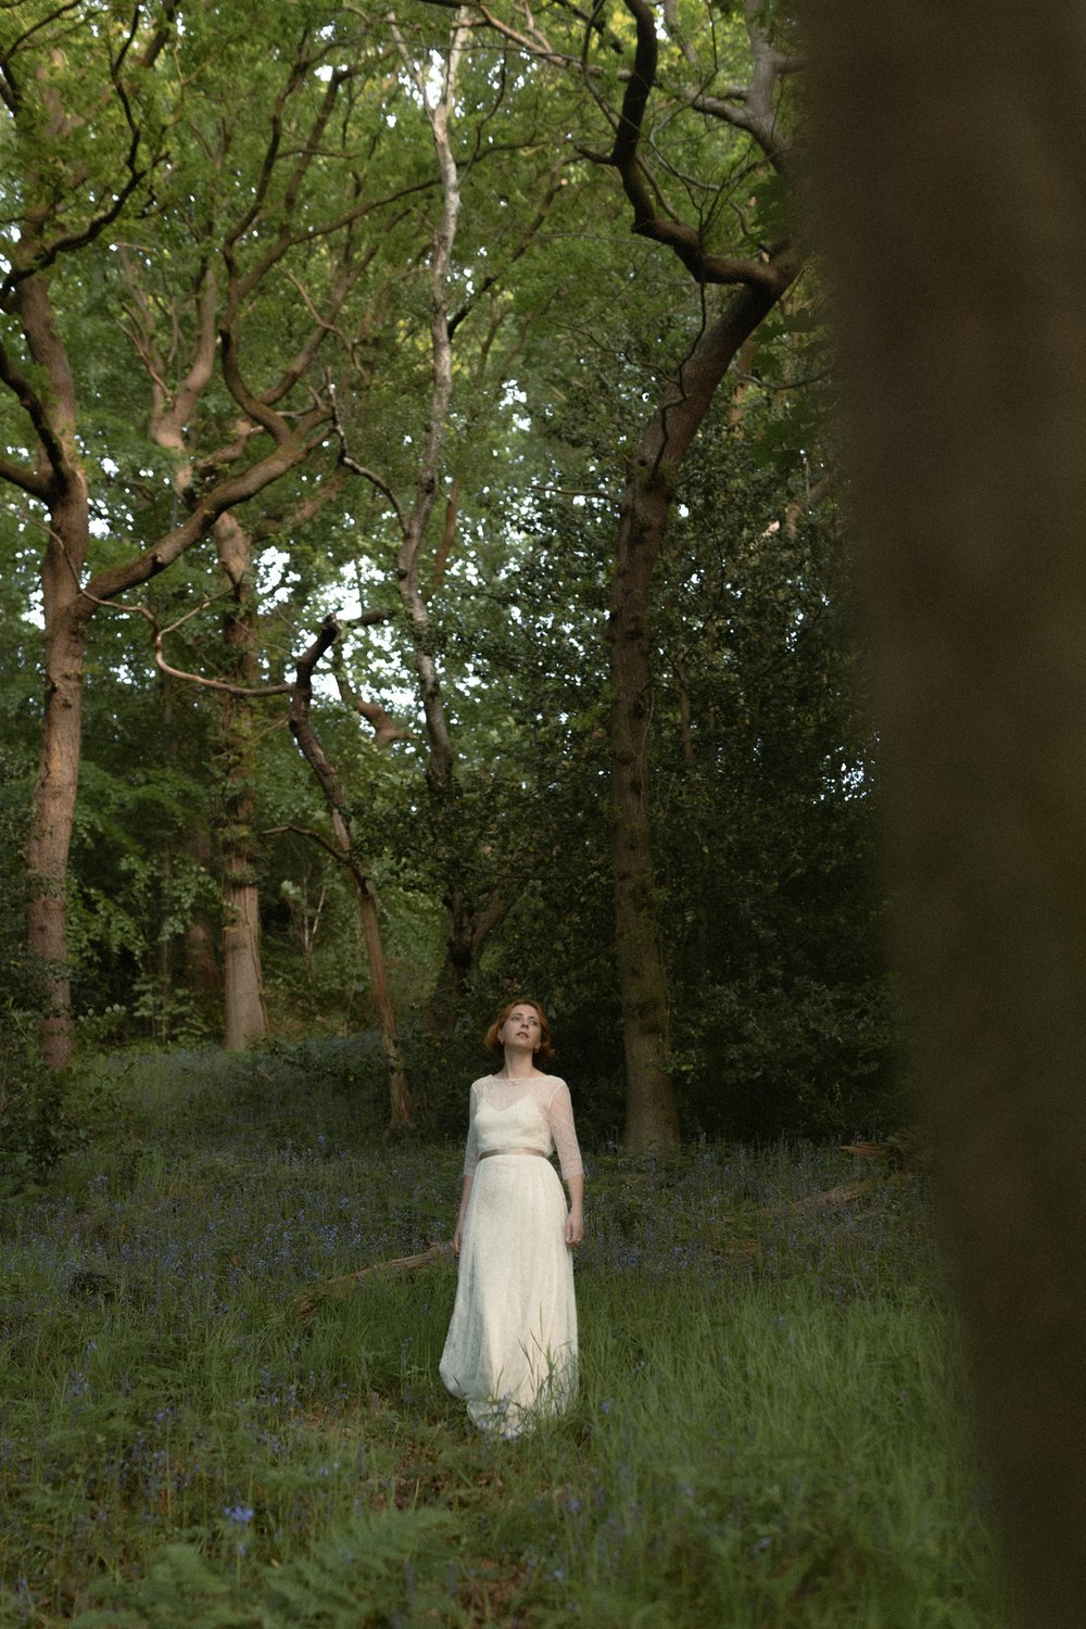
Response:
[[[1081,1629],[1086,16],[808,16],[896,951],[1018,1621]]]

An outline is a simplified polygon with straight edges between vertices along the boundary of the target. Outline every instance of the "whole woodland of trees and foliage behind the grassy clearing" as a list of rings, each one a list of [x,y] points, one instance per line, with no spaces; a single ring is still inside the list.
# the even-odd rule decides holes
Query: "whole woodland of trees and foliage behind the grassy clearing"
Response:
[[[3,28],[5,1137],[344,1036],[444,1127],[524,992],[606,1142],[894,1129],[795,23]]]

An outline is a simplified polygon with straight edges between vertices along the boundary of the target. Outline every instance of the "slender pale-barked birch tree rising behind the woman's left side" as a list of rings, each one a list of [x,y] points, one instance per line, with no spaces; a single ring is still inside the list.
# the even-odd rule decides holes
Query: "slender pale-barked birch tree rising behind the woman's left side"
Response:
[[[422,28],[409,29],[402,16],[391,20],[391,28],[412,99],[428,125],[438,179],[427,244],[427,371],[425,383],[422,370],[417,380],[420,397],[417,417],[422,424],[415,422],[412,433],[404,437],[409,445],[418,445],[417,461],[414,466],[405,466],[401,453],[399,471],[389,458],[391,469],[376,474],[348,451],[348,437],[342,425],[339,428],[344,438],[344,464],[379,494],[396,526],[396,586],[404,609],[427,741],[428,841],[441,873],[441,898],[448,912],[446,955],[425,1015],[427,1028],[441,1033],[456,1023],[458,1007],[467,995],[484,946],[505,919],[508,898],[501,886],[501,863],[492,865],[484,881],[471,862],[474,831],[471,823],[464,821],[459,785],[462,754],[458,754],[449,725],[436,650],[433,596],[444,586],[458,523],[462,520],[461,477],[472,456],[472,450],[464,446],[462,432],[471,427],[474,437],[480,438],[500,422],[498,401],[508,381],[505,370],[510,352],[513,355],[519,352],[524,331],[532,321],[532,316],[521,319],[519,324],[511,321],[513,303],[505,285],[510,269],[534,246],[547,220],[560,184],[560,166],[555,166],[547,155],[542,173],[532,176],[526,189],[523,184],[503,189],[500,182],[492,181],[490,197],[480,184],[474,197],[475,264],[471,264],[471,249],[458,259],[454,251],[464,200],[453,130],[454,114],[464,121],[471,117],[474,171],[482,169],[484,158],[501,155],[506,147],[516,151],[521,147],[539,145],[534,109],[528,111],[528,130],[518,129],[515,119],[506,140],[490,134],[488,127],[505,101],[505,77],[487,72],[484,65],[482,75],[475,75],[469,86],[464,85],[469,39],[466,13],[456,11],[448,39],[441,46],[430,41]],[[526,222],[518,218],[518,236],[511,243],[505,241],[510,236],[506,222],[495,222],[490,236],[487,215],[495,209],[493,194],[498,194],[497,204],[506,209],[511,195],[516,197],[519,191],[528,192],[534,212]],[[515,327],[515,337],[503,347],[500,336],[506,327]],[[474,329],[480,332],[474,334]],[[458,448],[459,464],[449,474],[446,445],[458,430],[462,437]],[[446,498],[438,505],[443,485]],[[438,539],[433,538],[435,510],[441,516]]]

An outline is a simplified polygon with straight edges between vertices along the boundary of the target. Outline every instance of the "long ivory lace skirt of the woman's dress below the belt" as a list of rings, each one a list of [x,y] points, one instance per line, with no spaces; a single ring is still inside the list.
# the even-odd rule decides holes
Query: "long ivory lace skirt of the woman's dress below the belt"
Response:
[[[573,1259],[549,1160],[497,1153],[475,1168],[441,1380],[482,1430],[516,1437],[576,1391]]]

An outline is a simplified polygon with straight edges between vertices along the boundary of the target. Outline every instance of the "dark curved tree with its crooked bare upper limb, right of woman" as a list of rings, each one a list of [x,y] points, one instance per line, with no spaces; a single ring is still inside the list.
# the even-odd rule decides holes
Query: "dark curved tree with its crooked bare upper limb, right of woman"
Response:
[[[651,582],[676,494],[677,472],[716,389],[741,345],[795,280],[799,264],[788,241],[762,252],[716,254],[705,231],[679,220],[645,178],[643,127],[658,78],[656,16],[645,0],[627,0],[637,23],[637,52],[607,156],[633,210],[633,230],[664,243],[698,287],[736,287],[705,321],[687,357],[666,380],[627,476],[611,599],[611,749],[614,784],[615,945],[627,1056],[628,1148],[669,1147],[679,1121],[669,1064],[668,981],[656,911],[651,826],[645,787],[653,666],[648,635]],[[760,5],[747,5],[754,73],[738,98],[692,98],[695,111],[718,112],[742,127],[782,173],[788,158],[780,109],[782,77],[791,60],[770,41]]]

